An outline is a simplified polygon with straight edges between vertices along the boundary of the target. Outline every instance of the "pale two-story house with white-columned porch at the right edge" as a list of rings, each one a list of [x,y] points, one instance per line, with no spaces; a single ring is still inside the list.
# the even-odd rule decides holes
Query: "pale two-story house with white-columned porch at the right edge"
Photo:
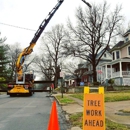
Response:
[[[110,50],[112,61],[101,64],[102,80],[107,82],[114,79],[116,85],[130,85],[130,30],[123,36],[124,41],[118,42]]]

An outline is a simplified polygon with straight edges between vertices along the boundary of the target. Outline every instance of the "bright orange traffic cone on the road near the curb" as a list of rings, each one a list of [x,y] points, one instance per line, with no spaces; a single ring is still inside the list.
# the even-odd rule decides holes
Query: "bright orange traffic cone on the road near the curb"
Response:
[[[48,123],[48,130],[60,130],[58,123],[58,114],[56,109],[56,101],[54,101],[52,104],[50,120]]]

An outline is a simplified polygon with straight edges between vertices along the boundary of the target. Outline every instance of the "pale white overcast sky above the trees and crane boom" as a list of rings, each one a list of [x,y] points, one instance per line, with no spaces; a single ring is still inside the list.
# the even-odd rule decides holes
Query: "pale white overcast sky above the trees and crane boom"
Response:
[[[90,4],[103,2],[103,0],[86,1]],[[57,0],[0,0],[0,32],[2,36],[7,37],[6,43],[14,44],[18,42],[22,45],[22,48],[25,48],[32,40],[35,31],[14,28],[1,23],[37,30],[56,3]],[[107,0],[107,3],[111,5],[110,9],[113,9],[116,4],[122,4],[122,14],[126,18],[125,24],[127,25],[130,21],[130,1]],[[84,8],[86,5],[81,0],[64,0],[45,31],[56,24],[65,24],[68,17],[71,20],[74,19],[75,10],[78,6]]]

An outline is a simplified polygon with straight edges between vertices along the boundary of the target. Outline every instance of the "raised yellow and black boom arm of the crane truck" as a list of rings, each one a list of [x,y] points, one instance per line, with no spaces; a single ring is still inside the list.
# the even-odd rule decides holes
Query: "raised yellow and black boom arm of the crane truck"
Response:
[[[30,42],[30,45],[25,48],[20,54],[16,62],[16,72],[17,74],[22,73],[22,64],[24,63],[26,55],[29,55],[33,51],[33,47],[35,46],[37,40],[39,39],[40,35],[46,28],[47,24],[55,14],[55,12],[58,10],[58,8],[61,6],[64,0],[59,0],[58,3],[55,5],[55,7],[49,12],[48,16],[43,20],[43,22],[40,24],[38,30],[36,31],[32,41]]]

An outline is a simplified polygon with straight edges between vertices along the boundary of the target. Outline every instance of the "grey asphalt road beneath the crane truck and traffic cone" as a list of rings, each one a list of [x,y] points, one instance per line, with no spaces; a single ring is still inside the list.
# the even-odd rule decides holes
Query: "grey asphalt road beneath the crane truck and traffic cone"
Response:
[[[53,97],[35,93],[32,97],[0,95],[0,130],[47,130]],[[57,104],[60,130],[67,130],[64,113]]]

